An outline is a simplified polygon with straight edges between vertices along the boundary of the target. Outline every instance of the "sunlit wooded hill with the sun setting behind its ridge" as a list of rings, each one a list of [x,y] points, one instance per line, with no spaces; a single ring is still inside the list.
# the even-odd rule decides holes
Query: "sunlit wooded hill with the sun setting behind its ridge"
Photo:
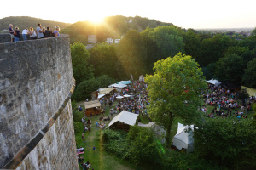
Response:
[[[98,42],[105,42],[107,37],[114,39],[121,38],[129,30],[143,31],[147,27],[155,28],[157,26],[174,26],[172,23],[150,20],[140,16],[126,17],[122,15],[108,16],[102,23],[92,23],[90,21],[79,21],[66,29],[61,30],[61,33],[69,34],[70,41],[82,42],[87,44],[88,35],[96,35]]]

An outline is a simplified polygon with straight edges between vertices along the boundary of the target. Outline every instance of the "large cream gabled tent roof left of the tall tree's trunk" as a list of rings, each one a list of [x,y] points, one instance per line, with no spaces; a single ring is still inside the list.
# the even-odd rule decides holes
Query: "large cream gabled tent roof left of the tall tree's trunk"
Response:
[[[113,125],[115,122],[124,122],[125,124],[134,126],[137,120],[137,116],[137,114],[128,111],[122,111],[117,116],[113,117],[112,121],[108,124],[108,127]]]

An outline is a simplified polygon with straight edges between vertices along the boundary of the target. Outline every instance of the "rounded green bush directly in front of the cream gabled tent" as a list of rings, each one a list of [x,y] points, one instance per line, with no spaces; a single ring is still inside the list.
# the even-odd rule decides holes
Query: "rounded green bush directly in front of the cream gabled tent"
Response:
[[[154,133],[143,127],[131,127],[128,135],[122,131],[107,129],[102,136],[107,150],[136,164],[154,164],[160,161],[161,144],[154,139]]]

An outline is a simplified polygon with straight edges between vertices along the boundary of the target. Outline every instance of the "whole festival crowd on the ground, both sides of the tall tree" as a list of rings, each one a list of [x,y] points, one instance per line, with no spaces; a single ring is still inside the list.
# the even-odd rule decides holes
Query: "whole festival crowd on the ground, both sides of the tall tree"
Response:
[[[240,104],[240,102],[238,102],[238,94],[236,92],[231,92],[229,89],[212,87],[211,84],[209,84],[208,86],[208,89],[203,94],[205,105],[202,105],[202,107],[200,108],[201,111],[205,112],[204,116],[212,118],[216,116],[235,116],[239,119],[248,117],[247,112],[251,110],[251,105],[253,105],[253,102],[255,101],[255,98],[253,96],[247,102],[243,102]],[[124,98],[120,99],[120,96],[124,96]],[[112,91],[111,93],[105,95],[99,100],[102,105],[102,113],[106,111],[106,107],[107,105],[109,105],[110,116],[112,116],[113,114],[119,114],[121,111],[129,111],[135,114],[139,114],[141,116],[148,115],[146,109],[146,106],[149,105],[148,91],[147,84],[144,82],[132,82],[131,85],[128,85],[125,88],[118,88],[117,90]],[[115,106],[113,106],[114,101],[118,102],[118,104]],[[206,107],[206,105],[213,106],[210,114],[208,114],[209,111],[207,113],[207,108],[209,107]],[[82,110],[81,106],[79,110]],[[105,123],[101,122],[102,120],[105,120],[105,118],[103,118],[102,116],[100,117],[100,121],[96,122],[97,128],[102,129],[106,126]],[[109,116],[106,120],[110,121]],[[85,131],[88,130],[87,127],[92,126],[90,117],[82,118],[82,122],[84,122]],[[140,121],[138,120],[138,122]],[[88,164],[81,164],[81,166],[85,169],[89,168],[87,165]]]

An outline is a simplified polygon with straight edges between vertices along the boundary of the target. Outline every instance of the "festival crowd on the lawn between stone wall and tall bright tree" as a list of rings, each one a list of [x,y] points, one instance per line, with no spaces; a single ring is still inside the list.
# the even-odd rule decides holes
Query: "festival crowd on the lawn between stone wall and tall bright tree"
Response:
[[[119,88],[100,99],[102,104],[102,116],[106,111],[107,105],[109,105],[110,115],[119,114],[121,111],[129,111],[136,114],[147,115],[146,105],[148,105],[148,92],[146,91],[147,85],[144,82],[133,82],[132,85],[128,85],[126,88]],[[117,99],[118,96],[129,95],[124,99]],[[118,101],[118,105],[113,106],[113,102]],[[82,111],[81,105],[78,107],[78,111]],[[84,114],[85,115],[85,114]],[[100,116],[99,121],[96,122],[96,128],[103,129],[106,124],[102,122],[103,120],[110,121],[108,117]],[[90,132],[90,127],[92,127],[92,122],[89,117],[82,117],[81,122],[84,124],[84,132],[82,133],[82,139],[86,142],[84,138],[85,132]],[[78,153],[83,151],[84,148],[78,148]],[[93,146],[93,151],[95,151],[95,146]],[[83,169],[89,169],[91,167],[90,162],[84,163],[84,157],[78,156],[78,161]]]

